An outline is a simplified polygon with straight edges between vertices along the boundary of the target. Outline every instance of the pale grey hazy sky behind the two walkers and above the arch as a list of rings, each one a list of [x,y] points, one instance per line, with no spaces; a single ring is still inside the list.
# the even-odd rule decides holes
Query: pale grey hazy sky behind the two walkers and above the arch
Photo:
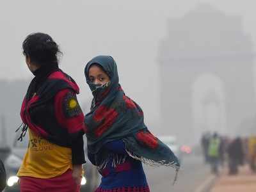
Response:
[[[199,3],[243,16],[244,31],[256,42],[256,3],[249,0],[1,0],[0,78],[31,78],[21,53],[22,41],[32,32],[49,33],[63,51],[61,68],[81,87],[80,100],[91,97],[84,83],[84,65],[93,56],[110,54],[118,64],[125,92],[153,124],[159,120],[159,40],[166,36],[168,19],[182,17]]]

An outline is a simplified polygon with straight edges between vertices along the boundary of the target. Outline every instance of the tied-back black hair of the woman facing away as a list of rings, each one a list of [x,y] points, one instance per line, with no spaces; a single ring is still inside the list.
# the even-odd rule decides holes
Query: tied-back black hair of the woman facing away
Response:
[[[58,64],[59,46],[45,33],[31,33],[22,44],[23,54],[38,65]]]

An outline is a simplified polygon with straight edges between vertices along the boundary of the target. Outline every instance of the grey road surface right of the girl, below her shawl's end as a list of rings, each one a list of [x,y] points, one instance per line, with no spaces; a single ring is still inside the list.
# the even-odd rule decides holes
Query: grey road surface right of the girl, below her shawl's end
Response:
[[[201,192],[199,188],[212,176],[209,166],[202,159],[201,156],[193,155],[184,157],[174,186],[175,171],[172,168],[145,166],[150,192]]]

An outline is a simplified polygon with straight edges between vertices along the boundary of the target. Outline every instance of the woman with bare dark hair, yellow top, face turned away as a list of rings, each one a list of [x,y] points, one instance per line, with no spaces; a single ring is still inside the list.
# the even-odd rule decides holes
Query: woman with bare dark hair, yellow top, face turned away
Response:
[[[28,35],[22,44],[35,76],[22,102],[19,140],[29,132],[29,146],[17,173],[20,191],[80,191],[84,160],[84,115],[79,87],[58,67],[58,45],[44,33]]]

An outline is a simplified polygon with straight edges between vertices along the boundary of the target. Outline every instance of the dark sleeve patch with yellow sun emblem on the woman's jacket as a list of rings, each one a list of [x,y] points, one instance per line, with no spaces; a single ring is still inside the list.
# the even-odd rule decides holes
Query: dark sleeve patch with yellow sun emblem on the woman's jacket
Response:
[[[82,110],[78,104],[76,94],[73,92],[68,92],[63,100],[63,112],[67,118],[79,115]]]

